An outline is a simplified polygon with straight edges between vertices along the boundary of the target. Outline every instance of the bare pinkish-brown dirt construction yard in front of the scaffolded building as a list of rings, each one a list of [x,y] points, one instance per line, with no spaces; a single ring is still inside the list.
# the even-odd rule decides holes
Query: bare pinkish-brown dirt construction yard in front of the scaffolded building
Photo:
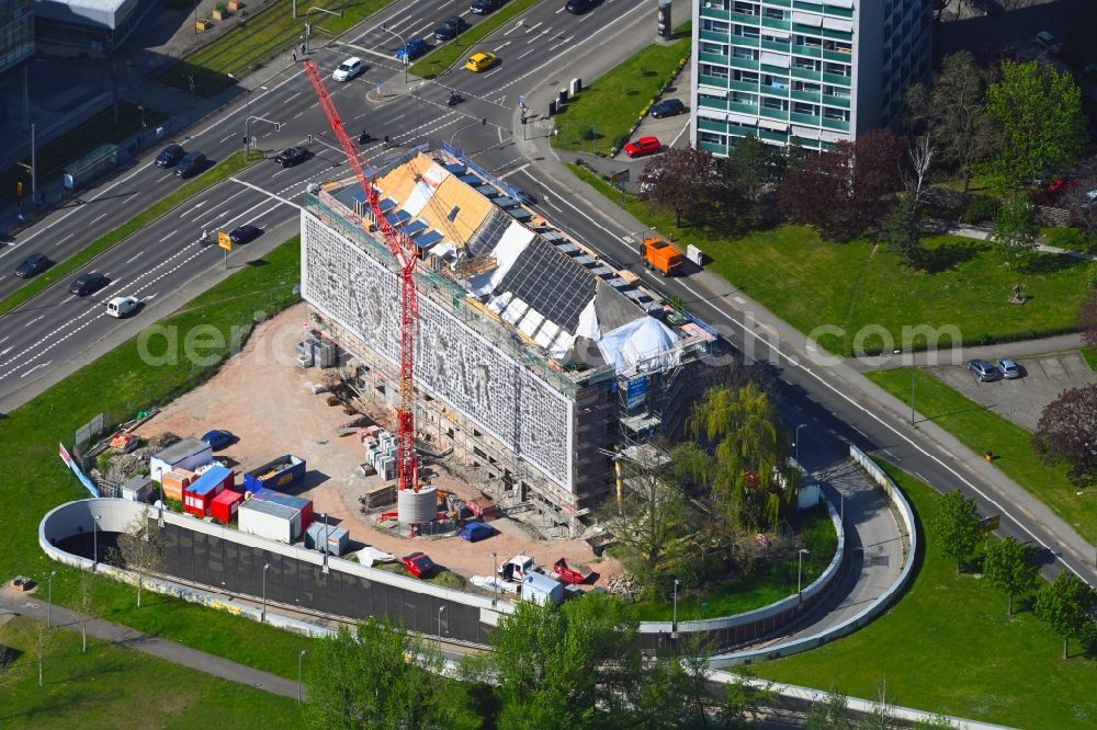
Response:
[[[244,350],[216,376],[143,424],[140,435],[170,431],[199,437],[211,429],[231,431],[238,441],[217,452],[215,458],[237,470],[237,483],[242,482],[242,472],[283,454],[299,456],[308,468],[306,478],[285,491],[313,500],[317,520],[327,514],[330,524],[350,532],[352,541],[397,558],[423,550],[434,562],[465,578],[489,575],[493,552],[500,562],[525,554],[542,566],[552,566],[561,557],[569,563],[586,563],[597,571],[597,584],[601,585],[621,572],[612,558],[596,559],[581,539],[542,539],[510,517],[490,521],[498,533],[475,544],[456,536],[405,538],[395,531],[370,525],[360,512],[359,497],[384,482],[377,476],[364,477],[359,470],[365,460],[359,438],[338,435],[339,427],[352,417],[340,407],[328,406],[327,393],[313,395],[309,386],[320,383],[323,372],[297,367],[296,346],[307,317],[307,306],[302,304],[259,326]],[[381,425],[391,427],[394,423]],[[433,478],[432,483],[465,500],[480,494],[475,486],[455,477],[443,475]],[[389,509],[395,510],[395,505]]]

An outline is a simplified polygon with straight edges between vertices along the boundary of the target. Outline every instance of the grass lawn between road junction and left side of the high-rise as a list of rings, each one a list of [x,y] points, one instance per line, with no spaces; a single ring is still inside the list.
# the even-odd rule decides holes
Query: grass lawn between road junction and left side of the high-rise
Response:
[[[689,60],[690,38],[669,45],[653,44],[609,73],[589,82],[556,115],[559,134],[553,147],[577,152],[609,155],[629,140],[629,130],[663,87]],[[669,140],[664,140],[669,141]]]

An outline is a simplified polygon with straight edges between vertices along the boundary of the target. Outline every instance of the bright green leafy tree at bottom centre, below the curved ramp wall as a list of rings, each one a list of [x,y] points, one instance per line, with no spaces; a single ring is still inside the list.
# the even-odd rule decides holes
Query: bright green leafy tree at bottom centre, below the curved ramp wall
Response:
[[[612,595],[559,607],[519,603],[499,619],[486,658],[499,727],[579,729],[619,720],[643,671],[635,631]]]

